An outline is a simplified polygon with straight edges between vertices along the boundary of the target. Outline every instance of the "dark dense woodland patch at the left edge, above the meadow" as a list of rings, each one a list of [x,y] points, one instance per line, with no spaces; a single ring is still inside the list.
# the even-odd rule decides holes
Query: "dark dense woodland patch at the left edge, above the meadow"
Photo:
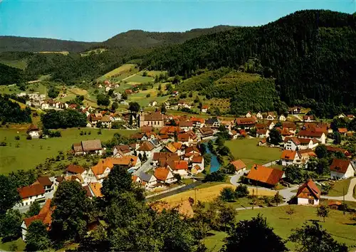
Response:
[[[31,109],[21,110],[18,103],[14,103],[9,98],[0,95],[0,121],[4,125],[6,122],[31,122]]]

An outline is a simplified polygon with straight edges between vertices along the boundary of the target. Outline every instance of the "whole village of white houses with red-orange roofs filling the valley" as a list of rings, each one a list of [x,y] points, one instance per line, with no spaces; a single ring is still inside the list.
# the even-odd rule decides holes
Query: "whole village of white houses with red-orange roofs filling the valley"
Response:
[[[159,109],[156,112],[145,112],[141,109],[137,114],[127,112],[120,119],[110,112],[95,111],[88,107],[80,108],[80,111],[88,118],[87,127],[98,127],[100,122],[99,127],[110,129],[112,122],[121,120],[122,125],[131,125],[138,128],[139,132],[130,135],[130,144],[115,145],[110,150],[103,147],[100,140],[73,142],[70,151],[75,156],[99,156],[98,164],[90,169],[85,169],[78,164],[70,164],[66,167],[65,174],[59,177],[41,176],[33,184],[19,188],[22,200],[14,206],[15,209],[26,211],[34,201],[44,204],[40,214],[23,221],[21,226],[23,240],[26,239],[26,230],[31,221],[39,219],[48,225],[51,224],[51,218],[48,217],[50,214],[48,202],[53,198],[61,182],[76,181],[85,189],[88,198],[101,197],[103,194],[100,189],[103,181],[112,168],[119,165],[126,167],[127,172],[132,176],[132,182],[145,189],[147,199],[167,192],[172,195],[174,190],[186,186],[182,181],[187,182],[187,179],[191,179],[194,182],[204,179],[207,174],[206,168],[211,169],[210,164],[204,160],[206,149],[209,149],[209,142],[216,141],[221,135],[225,135],[226,140],[233,140],[232,142],[244,141],[248,138],[259,139],[258,148],[261,150],[281,149],[280,158],[271,160],[268,164],[256,163],[247,166],[241,159],[226,157],[219,167],[214,171],[210,170],[214,173],[224,166],[233,167],[234,171],[229,175],[229,182],[233,186],[246,184],[256,196],[258,191],[263,190],[271,191],[273,194],[278,193],[283,198],[281,206],[298,204],[312,207],[318,206],[321,199],[328,199],[329,206],[335,209],[342,205],[345,196],[348,201],[356,201],[352,196],[356,178],[351,179],[356,174],[355,155],[352,159],[352,153],[333,145],[330,135],[333,135],[334,129],[330,123],[317,122],[313,115],[301,114],[299,107],[290,109],[290,115],[297,115],[302,119],[298,122],[286,120],[287,115],[277,116],[274,112],[257,114],[248,112],[244,117],[226,120],[221,117],[204,119],[199,115],[190,117],[169,115],[160,112]],[[206,111],[203,108],[201,112]],[[344,117],[348,118],[347,120],[354,120],[353,115],[338,116],[338,118]],[[342,134],[342,137],[353,134],[345,128],[336,130]],[[32,138],[42,135],[36,125],[31,125],[27,132]],[[278,137],[281,137],[281,142],[272,143],[271,134],[276,132]],[[323,179],[323,182],[305,179],[304,182],[291,183],[285,168],[308,167],[308,164],[311,166],[310,161],[313,163],[318,159],[315,149],[320,146],[325,147],[326,152],[333,157],[332,163],[327,168],[328,179]],[[335,182],[343,179],[351,179],[349,188],[345,188],[344,199],[341,196],[322,195],[322,188],[328,184],[328,180]],[[248,209],[251,207],[253,209],[253,206],[248,206]]]

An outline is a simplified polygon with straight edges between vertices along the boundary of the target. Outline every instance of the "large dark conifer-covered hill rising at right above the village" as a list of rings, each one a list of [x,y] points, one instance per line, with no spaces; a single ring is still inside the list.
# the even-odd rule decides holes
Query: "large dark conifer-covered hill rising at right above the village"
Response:
[[[355,107],[355,44],[356,16],[297,11],[265,26],[234,28],[159,48],[142,66],[188,77],[199,68],[239,68],[255,57],[263,72],[276,78],[282,100],[326,115]]]

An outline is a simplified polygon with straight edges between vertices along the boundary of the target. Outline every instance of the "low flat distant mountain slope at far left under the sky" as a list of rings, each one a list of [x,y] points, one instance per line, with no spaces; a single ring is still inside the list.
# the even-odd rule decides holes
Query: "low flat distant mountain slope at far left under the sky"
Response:
[[[63,41],[52,38],[25,38],[16,36],[0,36],[0,52],[6,51],[68,51],[70,53],[88,50],[97,43]]]

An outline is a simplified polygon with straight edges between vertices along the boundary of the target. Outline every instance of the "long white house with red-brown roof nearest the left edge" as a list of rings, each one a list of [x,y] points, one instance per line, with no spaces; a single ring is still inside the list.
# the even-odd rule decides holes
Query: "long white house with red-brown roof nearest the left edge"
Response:
[[[31,205],[34,201],[44,202],[46,200],[45,189],[42,184],[31,184],[26,187],[18,188],[21,203],[16,207]]]

